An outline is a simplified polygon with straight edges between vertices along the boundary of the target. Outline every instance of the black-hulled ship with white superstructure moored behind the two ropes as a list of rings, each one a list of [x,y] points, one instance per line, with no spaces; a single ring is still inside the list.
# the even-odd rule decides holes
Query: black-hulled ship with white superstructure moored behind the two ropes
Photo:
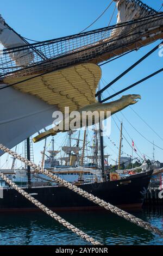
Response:
[[[122,138],[120,138],[120,144],[121,139]],[[28,139],[26,142],[27,152],[31,150],[30,143],[31,140]],[[82,188],[84,191],[102,198],[106,202],[120,207],[121,209],[140,210],[152,175],[157,174],[154,173],[152,168],[148,167],[148,164],[144,163],[136,168],[121,170],[122,164],[120,162],[120,156],[118,166],[116,166],[117,170],[111,170],[107,164],[103,172],[101,166],[99,166],[101,162],[97,160],[99,159],[99,157],[97,157],[99,151],[95,150],[95,148],[98,148],[97,144],[90,146],[91,149],[93,148],[93,154],[90,156],[89,153],[88,155],[88,159],[91,158],[91,163],[94,168],[85,167],[85,161],[81,162],[83,161],[83,153],[81,156],[77,154],[80,149],[79,145],[78,147],[71,148],[71,154],[72,149],[73,153],[76,152],[76,155],[73,154],[72,156],[76,156],[75,159],[77,160],[78,155],[80,159],[78,165],[76,165],[78,161],[72,161],[70,147],[68,146],[63,147],[64,150],[68,148],[68,150],[66,150],[68,159],[65,159],[65,157],[56,157],[60,151],[55,150],[54,148],[54,138],[52,139],[51,150],[47,150],[49,155],[47,155],[45,148],[46,143],[43,151],[41,151],[42,168],[46,168],[51,174],[58,175],[58,177]],[[45,157],[47,158],[45,159]],[[32,159],[32,157],[30,157],[30,159]],[[1,172],[8,175],[15,184],[22,187],[23,190],[33,195],[48,208],[55,211],[101,209],[96,204],[79,196],[68,188],[56,184],[52,179],[47,178],[45,175],[35,173],[33,169],[24,167],[21,170],[15,170],[14,161],[15,159],[12,161],[12,168],[10,170],[3,169]],[[60,164],[63,163],[63,161],[65,161],[65,164]],[[36,210],[36,207],[28,202],[28,200],[21,196],[17,191],[10,188],[7,184],[4,184],[3,181],[0,183],[0,211]]]

